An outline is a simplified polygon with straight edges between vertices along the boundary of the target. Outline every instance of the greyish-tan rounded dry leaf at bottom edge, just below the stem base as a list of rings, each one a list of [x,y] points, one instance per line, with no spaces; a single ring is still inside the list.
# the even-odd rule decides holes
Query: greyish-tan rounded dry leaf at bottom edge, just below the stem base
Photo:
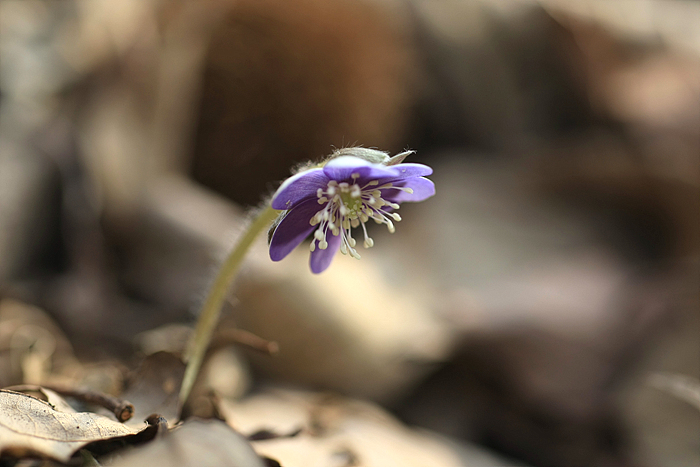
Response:
[[[250,443],[225,423],[191,420],[146,446],[133,449],[112,467],[264,467]]]

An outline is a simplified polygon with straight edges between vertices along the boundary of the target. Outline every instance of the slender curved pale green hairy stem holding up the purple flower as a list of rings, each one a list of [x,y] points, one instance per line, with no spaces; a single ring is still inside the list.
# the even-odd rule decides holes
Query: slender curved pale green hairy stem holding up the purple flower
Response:
[[[253,241],[255,241],[255,238],[275,220],[277,214],[278,211],[269,206],[260,211],[243,237],[238,241],[236,247],[221,265],[221,269],[219,269],[214,283],[207,294],[207,299],[197,319],[197,327],[194,336],[192,336],[187,353],[185,354],[187,367],[185,368],[185,376],[182,379],[182,386],[180,387],[180,396],[178,399],[180,408],[182,408],[187,401],[192,386],[194,386],[194,382],[197,379],[199,369],[202,366],[202,360],[209,347],[211,336],[214,333],[214,328],[219,322],[221,307],[224,304],[224,300],[226,300],[231,281],[236,277],[243,263],[243,258],[253,244]]]

